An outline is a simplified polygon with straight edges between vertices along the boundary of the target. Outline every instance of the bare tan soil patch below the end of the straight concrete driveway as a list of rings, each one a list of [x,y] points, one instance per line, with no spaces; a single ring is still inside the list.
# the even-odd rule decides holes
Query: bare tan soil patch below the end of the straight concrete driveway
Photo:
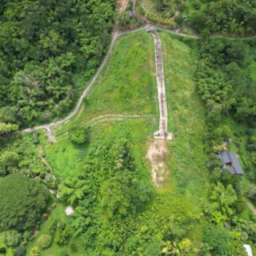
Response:
[[[168,177],[168,170],[165,163],[168,154],[166,140],[157,139],[150,142],[146,158],[150,161],[151,175],[154,185],[161,187],[164,180]]]

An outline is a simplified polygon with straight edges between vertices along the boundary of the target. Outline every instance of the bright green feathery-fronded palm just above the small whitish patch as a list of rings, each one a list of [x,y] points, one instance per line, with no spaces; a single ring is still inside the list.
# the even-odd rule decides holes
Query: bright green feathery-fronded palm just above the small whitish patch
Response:
[[[61,198],[64,198],[72,206],[81,200],[89,191],[86,180],[79,178],[66,178],[62,184],[58,186]]]

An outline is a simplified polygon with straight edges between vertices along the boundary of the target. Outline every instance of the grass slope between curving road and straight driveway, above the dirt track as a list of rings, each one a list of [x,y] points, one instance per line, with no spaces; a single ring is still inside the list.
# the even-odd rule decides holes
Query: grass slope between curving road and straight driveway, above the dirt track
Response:
[[[110,62],[88,95],[85,119],[104,113],[154,114],[155,86],[154,41],[140,31],[118,39]]]

